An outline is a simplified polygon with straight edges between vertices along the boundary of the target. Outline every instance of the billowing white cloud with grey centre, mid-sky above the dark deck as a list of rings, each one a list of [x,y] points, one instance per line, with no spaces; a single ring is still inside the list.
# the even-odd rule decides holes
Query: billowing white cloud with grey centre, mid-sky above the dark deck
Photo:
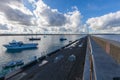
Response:
[[[33,13],[37,18],[37,24],[41,27],[54,27],[55,30],[56,27],[59,27],[56,31],[71,31],[73,33],[82,29],[82,15],[76,6],[72,7],[72,12],[61,13],[57,9],[51,9],[42,0],[39,0],[33,5],[36,6]],[[51,30],[53,30],[53,28]]]

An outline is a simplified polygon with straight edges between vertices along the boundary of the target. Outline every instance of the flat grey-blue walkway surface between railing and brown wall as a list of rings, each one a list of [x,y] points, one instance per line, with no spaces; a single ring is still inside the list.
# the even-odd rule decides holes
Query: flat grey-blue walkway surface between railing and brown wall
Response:
[[[120,65],[105,52],[93,39],[92,55],[97,80],[120,80]],[[115,79],[116,78],[116,79]]]

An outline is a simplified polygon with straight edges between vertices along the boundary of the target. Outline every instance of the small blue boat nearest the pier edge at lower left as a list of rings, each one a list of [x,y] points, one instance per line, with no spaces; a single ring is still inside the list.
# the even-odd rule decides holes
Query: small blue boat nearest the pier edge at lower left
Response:
[[[10,61],[3,66],[3,69],[24,65],[23,60]]]

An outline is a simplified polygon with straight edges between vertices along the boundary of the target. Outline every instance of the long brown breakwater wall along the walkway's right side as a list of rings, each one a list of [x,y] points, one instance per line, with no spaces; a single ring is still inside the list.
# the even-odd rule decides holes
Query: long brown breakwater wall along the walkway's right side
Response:
[[[120,42],[92,36],[92,38],[120,64]]]

